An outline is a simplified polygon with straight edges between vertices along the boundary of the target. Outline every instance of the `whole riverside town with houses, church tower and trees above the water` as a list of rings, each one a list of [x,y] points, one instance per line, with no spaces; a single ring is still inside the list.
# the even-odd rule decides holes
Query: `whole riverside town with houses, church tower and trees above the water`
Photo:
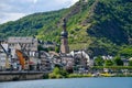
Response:
[[[35,36],[1,38],[0,75],[3,72],[46,72],[48,78],[132,76],[132,57],[90,56],[86,50],[69,52],[66,20],[63,19],[61,45]]]

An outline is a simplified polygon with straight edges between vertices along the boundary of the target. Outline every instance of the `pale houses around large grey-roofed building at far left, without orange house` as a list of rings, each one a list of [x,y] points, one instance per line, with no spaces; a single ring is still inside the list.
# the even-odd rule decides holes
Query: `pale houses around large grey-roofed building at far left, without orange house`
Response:
[[[8,41],[1,40],[1,53],[0,59],[3,61],[0,63],[1,69],[13,68],[16,69],[20,67],[20,59],[16,54],[16,50],[21,51],[23,55],[30,57],[30,63],[33,61],[36,64],[37,59],[37,38],[34,37],[9,37]],[[1,58],[1,54],[4,56]],[[24,58],[24,57],[23,57]],[[9,64],[10,67],[7,67],[4,64]]]

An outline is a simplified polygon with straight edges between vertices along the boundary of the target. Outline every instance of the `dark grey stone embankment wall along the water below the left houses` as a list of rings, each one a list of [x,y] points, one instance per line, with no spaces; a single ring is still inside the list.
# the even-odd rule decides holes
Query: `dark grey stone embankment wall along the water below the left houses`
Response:
[[[47,72],[0,72],[0,81],[43,79]]]

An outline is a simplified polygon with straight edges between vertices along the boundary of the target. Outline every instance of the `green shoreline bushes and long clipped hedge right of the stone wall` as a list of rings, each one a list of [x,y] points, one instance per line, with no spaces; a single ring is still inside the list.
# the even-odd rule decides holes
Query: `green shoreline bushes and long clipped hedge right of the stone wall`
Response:
[[[109,72],[103,72],[108,69]],[[91,70],[95,70],[95,73]],[[84,77],[132,77],[132,66],[94,66],[89,73],[68,73],[66,69],[55,67],[44,79],[84,78]]]

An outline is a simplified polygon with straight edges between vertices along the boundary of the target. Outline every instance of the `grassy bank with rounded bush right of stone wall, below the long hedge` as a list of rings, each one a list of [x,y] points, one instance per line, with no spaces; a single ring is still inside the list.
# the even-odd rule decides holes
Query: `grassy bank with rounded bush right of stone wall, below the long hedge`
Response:
[[[48,79],[57,79],[57,78],[82,78],[82,77],[132,77],[131,73],[121,73],[120,70],[117,72],[103,72],[102,69],[99,70],[96,69],[95,72],[92,70],[92,73],[74,73],[74,74],[69,74],[67,73],[66,69],[62,69],[58,67],[55,67],[54,70],[48,74],[47,77]]]

